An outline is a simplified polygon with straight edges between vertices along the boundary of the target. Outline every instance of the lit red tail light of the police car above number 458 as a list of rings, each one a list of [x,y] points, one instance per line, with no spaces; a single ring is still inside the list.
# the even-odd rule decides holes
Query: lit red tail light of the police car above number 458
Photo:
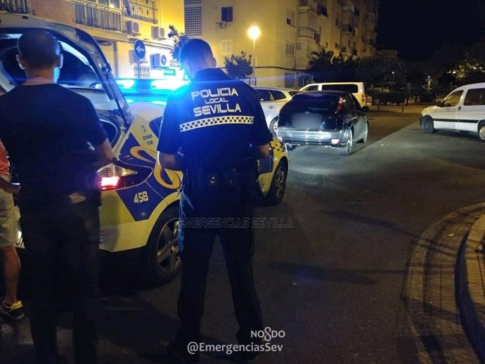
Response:
[[[98,169],[98,181],[101,190],[117,190],[127,188],[145,181],[150,173],[151,168],[127,166],[122,162],[113,162]]]

